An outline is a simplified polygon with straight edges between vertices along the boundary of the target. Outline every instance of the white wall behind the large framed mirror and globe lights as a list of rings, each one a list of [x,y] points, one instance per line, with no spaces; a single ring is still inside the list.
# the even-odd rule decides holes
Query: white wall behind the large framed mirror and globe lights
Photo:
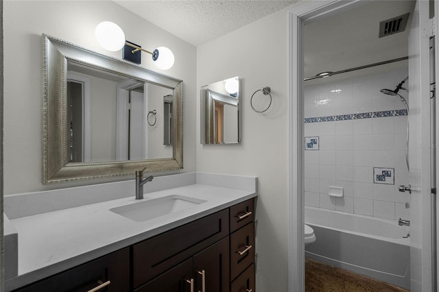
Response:
[[[95,40],[95,27],[102,21],[117,23],[127,40],[145,49],[169,47],[174,66],[162,71],[184,81],[185,169],[195,171],[195,64],[196,49],[111,1],[4,1],[4,193],[24,193],[67,186],[96,184],[108,180],[86,180],[42,185],[41,141],[41,34],[49,34],[77,45],[121,58],[121,52],[102,49]],[[142,66],[157,69],[150,55],[142,53]],[[163,175],[166,173],[157,173]]]

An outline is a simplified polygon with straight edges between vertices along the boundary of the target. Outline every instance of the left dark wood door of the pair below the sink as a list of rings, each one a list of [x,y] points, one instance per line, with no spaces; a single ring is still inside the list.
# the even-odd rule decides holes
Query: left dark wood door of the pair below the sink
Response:
[[[192,277],[193,258],[147,282],[135,292],[192,292],[195,280]],[[192,287],[191,287],[192,285]]]

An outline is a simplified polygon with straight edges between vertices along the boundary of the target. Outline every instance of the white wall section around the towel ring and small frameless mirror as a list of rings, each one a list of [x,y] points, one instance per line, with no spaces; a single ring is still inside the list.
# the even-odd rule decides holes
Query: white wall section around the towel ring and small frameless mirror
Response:
[[[197,50],[198,88],[239,76],[240,145],[197,143],[197,171],[256,175],[257,291],[288,287],[288,80],[287,10],[276,12]],[[255,90],[270,86],[273,103],[258,114],[250,107]],[[200,141],[200,94],[197,106]]]

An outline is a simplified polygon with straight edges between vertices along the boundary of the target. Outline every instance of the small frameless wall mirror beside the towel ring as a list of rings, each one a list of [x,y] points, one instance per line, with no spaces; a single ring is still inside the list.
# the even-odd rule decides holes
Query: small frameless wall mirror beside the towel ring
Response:
[[[239,77],[202,86],[200,99],[201,144],[239,144]]]

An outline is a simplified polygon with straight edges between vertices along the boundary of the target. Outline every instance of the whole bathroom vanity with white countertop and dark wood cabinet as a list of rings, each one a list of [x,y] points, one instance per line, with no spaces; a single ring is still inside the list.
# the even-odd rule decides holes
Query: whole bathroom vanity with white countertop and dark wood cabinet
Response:
[[[255,291],[254,197],[193,184],[12,219],[26,242],[6,291]],[[119,212],[169,198],[190,206],[144,221]]]

